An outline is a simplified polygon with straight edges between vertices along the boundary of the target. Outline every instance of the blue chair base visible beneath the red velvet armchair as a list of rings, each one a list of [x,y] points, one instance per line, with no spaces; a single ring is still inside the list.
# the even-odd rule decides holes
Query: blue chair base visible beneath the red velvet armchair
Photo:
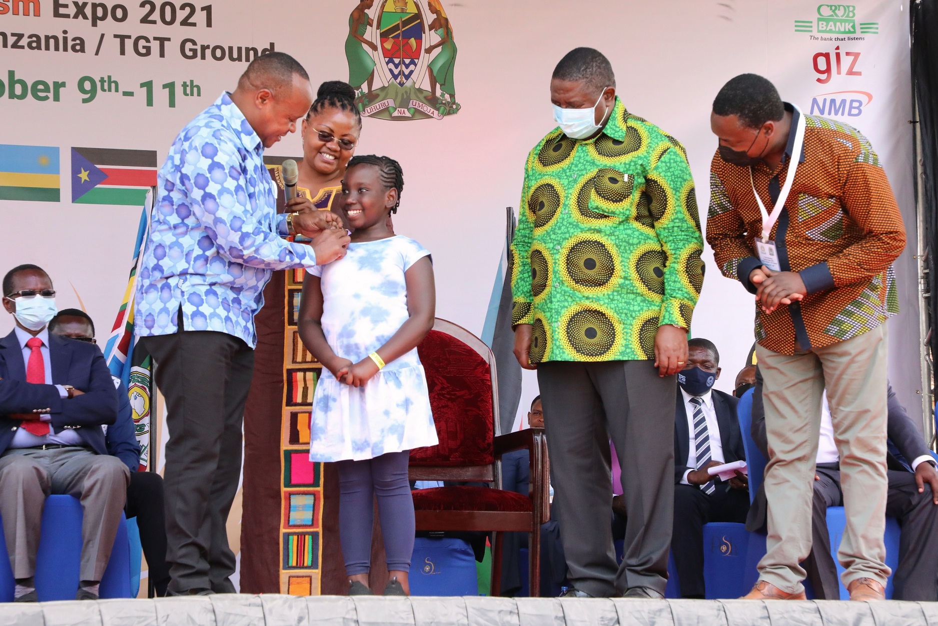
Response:
[[[417,537],[409,580],[414,596],[477,595],[476,555],[472,546],[452,537]]]

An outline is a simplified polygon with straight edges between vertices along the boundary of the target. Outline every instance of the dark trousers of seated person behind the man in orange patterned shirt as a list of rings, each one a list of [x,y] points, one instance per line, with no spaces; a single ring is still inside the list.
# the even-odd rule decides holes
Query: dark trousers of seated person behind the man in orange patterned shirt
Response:
[[[811,554],[804,562],[808,578],[819,600],[839,600],[837,566],[830,554],[827,507],[843,506],[840,471],[817,467],[811,514]],[[902,529],[899,567],[893,576],[893,600],[934,602],[938,600],[938,505],[931,489],[918,493],[915,474],[889,470],[885,514],[895,517]]]

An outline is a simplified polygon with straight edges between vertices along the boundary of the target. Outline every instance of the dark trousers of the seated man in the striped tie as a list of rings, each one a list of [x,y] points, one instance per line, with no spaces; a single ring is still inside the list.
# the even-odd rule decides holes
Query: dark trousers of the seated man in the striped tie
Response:
[[[707,496],[700,487],[674,485],[674,530],[671,550],[682,598],[704,598],[703,525],[708,522],[744,524],[749,513],[749,492],[718,482]]]

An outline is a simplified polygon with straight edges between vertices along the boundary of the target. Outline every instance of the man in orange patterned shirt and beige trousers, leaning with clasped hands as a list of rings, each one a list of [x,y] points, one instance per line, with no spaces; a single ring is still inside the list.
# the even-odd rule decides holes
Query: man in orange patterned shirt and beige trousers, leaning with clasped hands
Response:
[[[719,149],[706,237],[723,275],[758,301],[764,376],[767,553],[746,598],[804,599],[811,491],[825,389],[840,452],[847,527],[838,557],[853,600],[884,598],[885,320],[899,312],[892,263],[899,206],[870,142],[803,115],[761,76],[713,103]]]

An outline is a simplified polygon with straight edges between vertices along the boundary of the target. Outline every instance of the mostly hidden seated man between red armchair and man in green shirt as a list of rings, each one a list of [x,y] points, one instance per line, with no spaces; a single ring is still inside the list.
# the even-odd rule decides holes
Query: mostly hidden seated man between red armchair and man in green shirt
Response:
[[[540,405],[540,396],[531,403],[528,412],[528,426],[544,427],[544,411]],[[502,489],[527,496],[531,484],[530,452],[525,448],[512,450],[502,455]],[[522,579],[519,571],[518,553],[528,547],[526,532],[505,533],[502,548],[502,595],[515,596],[521,591]],[[567,559],[564,546],[560,542],[560,527],[555,520],[540,526],[540,595],[548,598],[556,594],[561,583],[567,577]],[[555,589],[556,588],[556,589]]]

